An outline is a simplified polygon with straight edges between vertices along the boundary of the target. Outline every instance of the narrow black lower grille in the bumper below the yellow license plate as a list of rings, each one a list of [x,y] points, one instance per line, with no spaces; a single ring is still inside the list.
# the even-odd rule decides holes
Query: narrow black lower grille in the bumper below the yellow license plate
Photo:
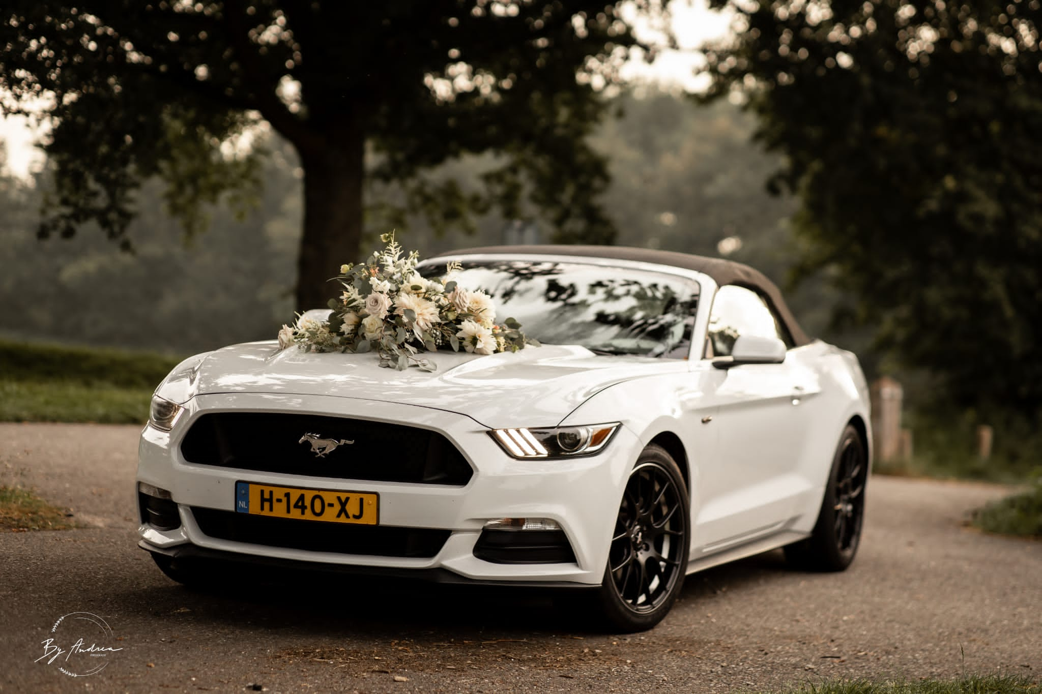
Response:
[[[219,540],[270,547],[376,557],[430,558],[451,531],[392,525],[352,525],[321,520],[271,518],[191,507],[199,530]]]

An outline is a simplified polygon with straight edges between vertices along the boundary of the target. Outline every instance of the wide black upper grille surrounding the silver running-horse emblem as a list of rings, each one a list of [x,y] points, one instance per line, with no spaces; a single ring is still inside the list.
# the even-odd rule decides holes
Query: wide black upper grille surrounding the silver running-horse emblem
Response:
[[[315,444],[301,440],[305,434],[338,444],[319,457]],[[463,454],[438,432],[313,414],[204,414],[181,442],[181,455],[199,465],[341,480],[462,486],[473,474]]]

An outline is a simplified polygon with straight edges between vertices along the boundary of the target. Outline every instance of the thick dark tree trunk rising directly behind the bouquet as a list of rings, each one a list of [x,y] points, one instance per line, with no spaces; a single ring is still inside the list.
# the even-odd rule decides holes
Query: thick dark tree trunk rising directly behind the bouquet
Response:
[[[304,170],[304,234],[297,260],[297,311],[325,308],[338,288],[327,282],[358,262],[365,136],[340,131],[324,147],[300,151]]]

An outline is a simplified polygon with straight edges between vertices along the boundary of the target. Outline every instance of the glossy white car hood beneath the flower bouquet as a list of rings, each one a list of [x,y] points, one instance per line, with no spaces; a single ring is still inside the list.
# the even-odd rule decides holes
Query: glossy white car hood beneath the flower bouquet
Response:
[[[274,341],[249,342],[187,360],[158,394],[177,403],[205,393],[333,395],[457,412],[490,428],[552,427],[615,383],[687,370],[685,361],[597,356],[577,345],[423,357],[438,369],[399,371],[378,366],[375,354],[279,351]]]

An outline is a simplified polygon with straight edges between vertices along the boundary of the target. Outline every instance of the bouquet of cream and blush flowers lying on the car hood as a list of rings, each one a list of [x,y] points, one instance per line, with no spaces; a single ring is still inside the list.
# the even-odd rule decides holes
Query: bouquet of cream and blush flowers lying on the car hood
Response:
[[[298,317],[282,326],[279,349],[293,344],[313,352],[375,352],[380,366],[405,369],[411,363],[432,371],[437,365],[417,355],[463,348],[474,354],[517,352],[538,342],[506,318],[497,325],[496,307],[481,290],[470,291],[451,279],[458,263],[448,263],[444,278],[426,279],[416,272],[420,256],[403,255],[394,234],[380,237],[386,248],[359,264],[341,265],[333,280],[343,287],[329,300],[328,320]]]

